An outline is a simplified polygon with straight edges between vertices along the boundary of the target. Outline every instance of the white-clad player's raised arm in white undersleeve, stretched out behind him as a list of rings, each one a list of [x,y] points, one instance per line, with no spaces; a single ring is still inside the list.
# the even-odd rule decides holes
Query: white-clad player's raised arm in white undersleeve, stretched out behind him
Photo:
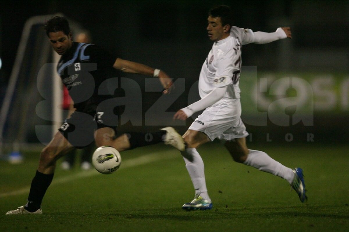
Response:
[[[253,32],[253,43],[263,44],[270,43],[275,40],[292,38],[290,27],[279,27],[275,32],[262,32],[256,31]]]

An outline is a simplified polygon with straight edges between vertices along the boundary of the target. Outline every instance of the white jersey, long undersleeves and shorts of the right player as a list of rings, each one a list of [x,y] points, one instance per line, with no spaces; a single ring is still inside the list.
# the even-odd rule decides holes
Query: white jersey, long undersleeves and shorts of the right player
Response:
[[[239,99],[242,45],[269,43],[286,37],[281,27],[272,33],[232,27],[227,38],[215,42],[200,72],[199,94],[203,99],[181,109],[187,117],[205,109],[189,129],[205,133],[210,140],[246,137]]]

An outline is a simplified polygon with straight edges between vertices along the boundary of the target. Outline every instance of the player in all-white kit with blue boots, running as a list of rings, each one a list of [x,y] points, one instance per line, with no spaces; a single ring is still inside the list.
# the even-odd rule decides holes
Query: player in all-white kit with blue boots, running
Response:
[[[286,179],[296,190],[300,201],[306,201],[303,170],[301,168],[292,170],[273,160],[265,152],[248,149],[246,146],[248,133],[240,118],[239,77],[242,45],[291,38],[290,28],[279,27],[273,33],[266,33],[235,27],[232,26],[230,7],[221,5],[209,11],[207,31],[214,44],[200,72],[201,100],[177,111],[173,117],[186,120],[193,113],[205,109],[183,135],[186,149],[181,154],[194,185],[195,198],[182,208],[186,210],[212,208],[206,188],[204,164],[196,147],[215,138],[224,141],[225,147],[236,162]]]

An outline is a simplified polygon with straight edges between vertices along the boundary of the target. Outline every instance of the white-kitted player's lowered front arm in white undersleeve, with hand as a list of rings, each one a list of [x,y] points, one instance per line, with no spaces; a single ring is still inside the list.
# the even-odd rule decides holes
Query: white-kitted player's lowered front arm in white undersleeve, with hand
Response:
[[[206,109],[207,107],[215,104],[224,96],[224,93],[227,91],[227,88],[228,86],[215,88],[201,100],[194,102],[193,104],[177,111],[177,113],[174,114],[173,119],[186,120],[195,112]]]

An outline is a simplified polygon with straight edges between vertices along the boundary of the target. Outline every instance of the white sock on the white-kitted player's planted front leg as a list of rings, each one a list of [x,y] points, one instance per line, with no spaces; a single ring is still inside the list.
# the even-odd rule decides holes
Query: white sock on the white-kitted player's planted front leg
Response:
[[[207,193],[205,168],[200,154],[195,148],[187,148],[185,151],[181,151],[180,153],[183,155],[185,167],[192,179],[195,196],[200,195],[203,199],[211,202]]]

